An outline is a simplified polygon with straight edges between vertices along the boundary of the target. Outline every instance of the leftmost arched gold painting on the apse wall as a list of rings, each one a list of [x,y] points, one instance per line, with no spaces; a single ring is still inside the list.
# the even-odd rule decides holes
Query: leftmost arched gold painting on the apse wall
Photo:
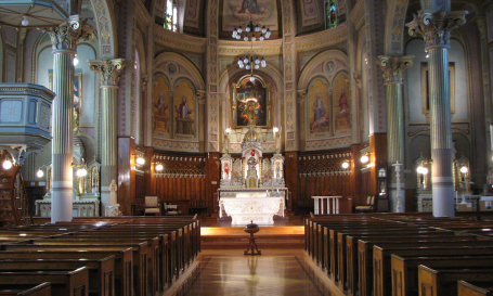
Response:
[[[158,76],[153,94],[154,131],[169,134],[169,85],[164,76]]]

